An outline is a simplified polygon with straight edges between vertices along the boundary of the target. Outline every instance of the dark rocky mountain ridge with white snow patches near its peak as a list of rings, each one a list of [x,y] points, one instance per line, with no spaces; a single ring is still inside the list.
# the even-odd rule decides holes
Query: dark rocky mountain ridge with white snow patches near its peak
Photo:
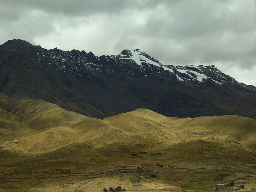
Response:
[[[9,40],[0,46],[0,93],[42,99],[103,118],[148,108],[166,116],[256,118],[256,88],[214,66],[163,65],[138,49],[100,57]]]

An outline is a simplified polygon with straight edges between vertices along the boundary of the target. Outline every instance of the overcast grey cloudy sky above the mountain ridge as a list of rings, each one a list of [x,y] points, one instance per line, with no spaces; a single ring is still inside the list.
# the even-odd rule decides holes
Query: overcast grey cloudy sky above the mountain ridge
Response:
[[[141,49],[163,64],[215,65],[256,85],[255,0],[0,0],[0,44],[95,55]]]

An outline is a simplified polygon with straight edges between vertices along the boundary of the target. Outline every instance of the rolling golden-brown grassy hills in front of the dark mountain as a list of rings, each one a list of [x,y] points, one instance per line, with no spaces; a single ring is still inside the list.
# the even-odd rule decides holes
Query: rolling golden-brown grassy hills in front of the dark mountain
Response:
[[[245,182],[246,191],[256,186],[256,120],[249,117],[136,109],[97,119],[9,97],[0,97],[0,109],[0,191],[194,191],[231,180]]]

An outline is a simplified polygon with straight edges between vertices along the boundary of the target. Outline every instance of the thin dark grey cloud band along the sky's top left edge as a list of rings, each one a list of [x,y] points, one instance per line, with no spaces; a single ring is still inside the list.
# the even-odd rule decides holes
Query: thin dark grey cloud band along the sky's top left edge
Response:
[[[125,8],[141,8],[148,1],[122,1],[122,0],[8,0],[2,6],[19,7],[20,9],[40,9],[50,14],[62,13],[64,15],[84,16],[95,13],[117,13]]]

